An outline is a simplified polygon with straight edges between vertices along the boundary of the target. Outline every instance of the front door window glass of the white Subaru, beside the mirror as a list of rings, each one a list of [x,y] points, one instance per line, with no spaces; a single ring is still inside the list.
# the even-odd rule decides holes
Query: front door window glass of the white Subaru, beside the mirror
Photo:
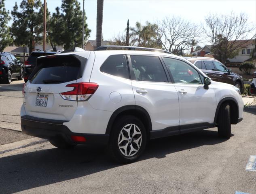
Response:
[[[175,83],[202,84],[199,73],[193,67],[177,59],[163,57]]]

